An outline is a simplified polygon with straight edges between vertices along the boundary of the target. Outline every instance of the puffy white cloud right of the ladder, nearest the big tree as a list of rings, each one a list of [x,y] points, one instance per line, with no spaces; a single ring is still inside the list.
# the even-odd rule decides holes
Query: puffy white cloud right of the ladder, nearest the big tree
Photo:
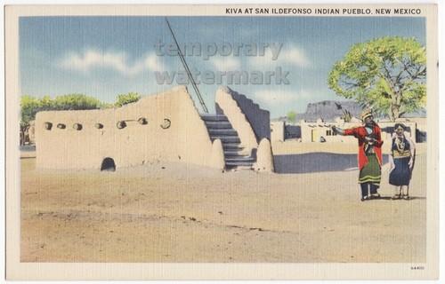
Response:
[[[271,69],[283,65],[311,67],[311,60],[301,48],[295,45],[285,45],[281,48],[278,59],[273,60],[271,49],[266,49],[264,56],[255,56],[250,58],[248,60],[248,65],[258,70]]]

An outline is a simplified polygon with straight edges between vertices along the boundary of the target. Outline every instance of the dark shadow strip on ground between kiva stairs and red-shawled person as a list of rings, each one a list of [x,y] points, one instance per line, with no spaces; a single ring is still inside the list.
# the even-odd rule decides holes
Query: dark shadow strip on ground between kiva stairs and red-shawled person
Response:
[[[358,170],[357,154],[307,153],[273,156],[275,172],[301,174],[322,171]],[[388,155],[384,154],[384,163]]]

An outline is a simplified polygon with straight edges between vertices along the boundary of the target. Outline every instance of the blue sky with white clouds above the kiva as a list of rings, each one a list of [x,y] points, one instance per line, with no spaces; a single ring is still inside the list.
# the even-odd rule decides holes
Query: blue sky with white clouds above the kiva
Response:
[[[415,37],[425,45],[424,18],[391,17],[169,17],[179,43],[282,43],[277,60],[263,57],[188,56],[200,71],[288,71],[289,84],[231,84],[271,111],[299,113],[310,102],[343,98],[328,89],[332,65],[352,44],[380,36]],[[118,94],[150,95],[156,71],[182,71],[177,57],[157,56],[156,43],[173,43],[163,17],[20,18],[20,91],[42,97],[85,93],[112,102]],[[223,82],[224,84],[224,82]],[[218,84],[199,84],[214,109]],[[194,97],[191,86],[191,95]],[[198,105],[198,101],[197,101]]]

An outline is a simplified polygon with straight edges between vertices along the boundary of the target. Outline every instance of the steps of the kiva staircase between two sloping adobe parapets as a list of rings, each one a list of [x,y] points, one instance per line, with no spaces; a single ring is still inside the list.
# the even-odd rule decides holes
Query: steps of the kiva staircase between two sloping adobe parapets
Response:
[[[241,145],[237,130],[223,114],[201,114],[206,123],[212,142],[220,139],[223,144],[224,161],[227,170],[252,169],[255,158]]]

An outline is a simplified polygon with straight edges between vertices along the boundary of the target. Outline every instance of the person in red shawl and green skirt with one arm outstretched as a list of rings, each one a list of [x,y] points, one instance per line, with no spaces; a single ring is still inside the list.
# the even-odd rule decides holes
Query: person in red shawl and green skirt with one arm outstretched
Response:
[[[379,198],[377,189],[380,186],[382,168],[382,145],[380,127],[374,122],[371,110],[361,114],[363,126],[342,130],[332,128],[340,135],[352,135],[359,141],[359,184],[361,187],[361,201]],[[368,193],[369,190],[369,193]]]

